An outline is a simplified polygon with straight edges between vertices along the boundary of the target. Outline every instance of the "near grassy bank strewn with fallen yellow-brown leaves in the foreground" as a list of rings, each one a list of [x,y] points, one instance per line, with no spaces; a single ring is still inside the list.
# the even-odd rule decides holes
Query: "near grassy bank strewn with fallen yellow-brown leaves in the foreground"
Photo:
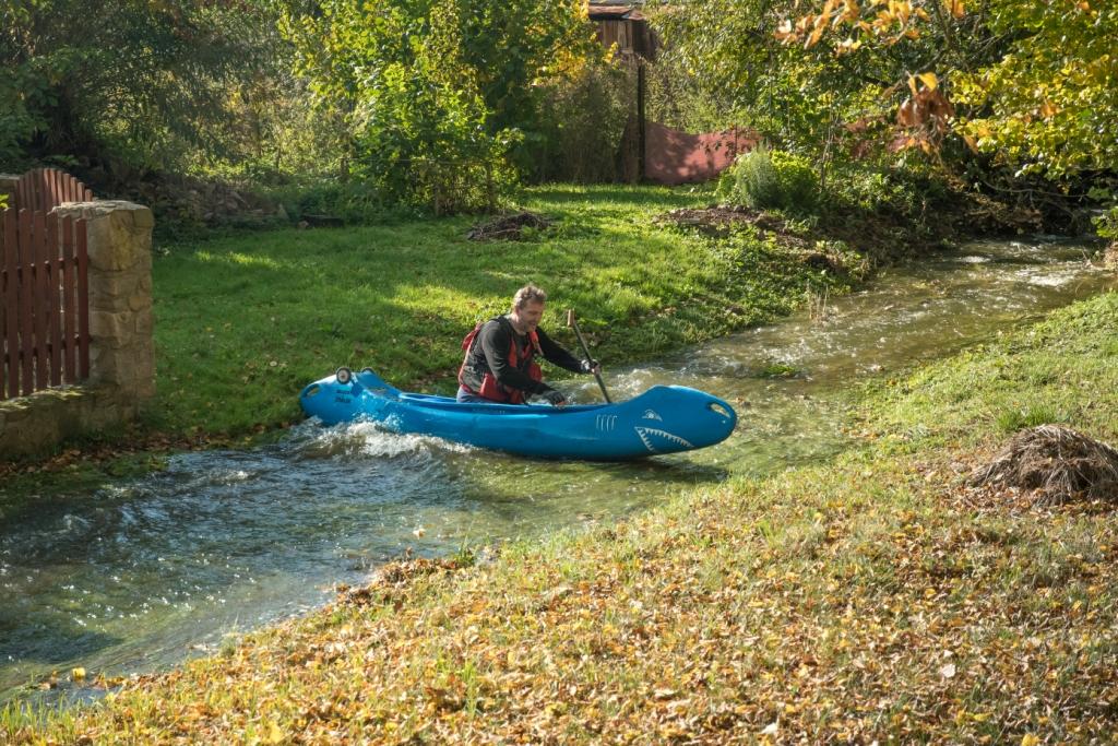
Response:
[[[1052,407],[1118,441],[1118,295],[866,393],[866,443],[495,563],[390,567],[13,743],[1092,743],[1115,502],[961,475]],[[1011,414],[1006,414],[1011,413]],[[1012,414],[1016,413],[1016,414]],[[1024,413],[1024,414],[1022,414]]]

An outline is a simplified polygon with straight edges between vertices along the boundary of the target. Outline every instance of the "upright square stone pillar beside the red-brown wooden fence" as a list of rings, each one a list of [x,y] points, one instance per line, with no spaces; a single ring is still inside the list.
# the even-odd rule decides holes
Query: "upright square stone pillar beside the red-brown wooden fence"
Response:
[[[124,201],[66,202],[87,221],[89,384],[119,388],[125,418],[155,394],[151,312],[151,210]]]

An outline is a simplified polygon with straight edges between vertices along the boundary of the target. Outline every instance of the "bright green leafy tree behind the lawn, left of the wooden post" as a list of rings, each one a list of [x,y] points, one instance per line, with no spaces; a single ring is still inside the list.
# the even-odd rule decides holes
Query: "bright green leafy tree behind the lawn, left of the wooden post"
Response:
[[[572,1],[322,6],[288,17],[285,34],[320,105],[345,123],[349,167],[386,204],[435,213],[492,208],[517,182],[536,84],[563,73],[586,30]]]

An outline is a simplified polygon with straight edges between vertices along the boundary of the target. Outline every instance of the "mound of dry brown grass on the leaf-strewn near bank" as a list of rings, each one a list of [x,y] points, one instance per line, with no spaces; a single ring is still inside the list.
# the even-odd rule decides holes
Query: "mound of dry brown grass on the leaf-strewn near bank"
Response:
[[[1077,499],[1118,503],[1118,451],[1059,425],[1022,431],[969,479],[975,487],[1036,490],[1036,503]]]

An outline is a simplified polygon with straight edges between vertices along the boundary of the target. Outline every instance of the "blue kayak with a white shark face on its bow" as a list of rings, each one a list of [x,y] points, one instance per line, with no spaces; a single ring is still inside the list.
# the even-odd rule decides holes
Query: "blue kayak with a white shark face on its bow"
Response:
[[[729,437],[738,419],[722,399],[685,386],[653,386],[614,404],[459,404],[400,391],[369,368],[340,368],[299,398],[326,425],[370,421],[394,433],[543,459],[622,461],[704,448]]]

